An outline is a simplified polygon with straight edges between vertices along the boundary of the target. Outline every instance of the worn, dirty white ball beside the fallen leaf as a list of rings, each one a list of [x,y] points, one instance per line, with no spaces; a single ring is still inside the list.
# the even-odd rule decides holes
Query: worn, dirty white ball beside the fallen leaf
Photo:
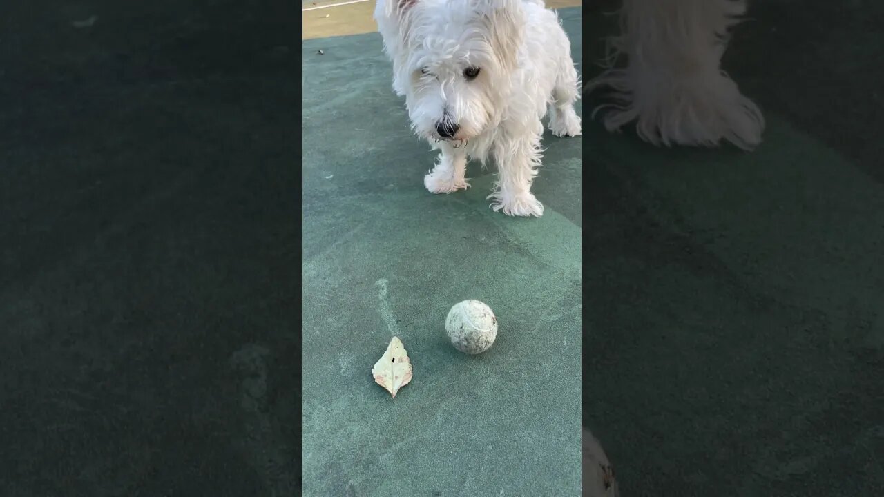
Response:
[[[465,354],[481,354],[497,338],[497,317],[483,302],[463,301],[448,311],[445,331],[454,348]]]

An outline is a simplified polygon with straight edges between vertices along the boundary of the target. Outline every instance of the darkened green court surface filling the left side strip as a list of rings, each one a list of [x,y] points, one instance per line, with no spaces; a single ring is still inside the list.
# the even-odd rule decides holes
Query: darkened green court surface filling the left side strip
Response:
[[[265,5],[0,3],[0,495],[299,494],[298,18]]]

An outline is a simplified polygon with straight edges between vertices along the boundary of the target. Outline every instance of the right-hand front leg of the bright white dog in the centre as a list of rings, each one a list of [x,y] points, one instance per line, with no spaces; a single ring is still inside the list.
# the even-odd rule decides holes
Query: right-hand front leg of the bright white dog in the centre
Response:
[[[531,193],[531,183],[540,165],[540,134],[507,137],[494,143],[499,180],[494,183],[492,209],[510,216],[543,216],[544,205]]]

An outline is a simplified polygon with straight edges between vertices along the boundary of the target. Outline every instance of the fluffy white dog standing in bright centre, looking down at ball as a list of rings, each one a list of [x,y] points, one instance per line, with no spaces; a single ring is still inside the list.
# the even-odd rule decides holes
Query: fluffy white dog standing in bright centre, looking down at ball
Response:
[[[412,129],[440,151],[424,186],[467,188],[467,160],[494,157],[492,209],[541,216],[530,187],[547,107],[553,134],[580,134],[577,73],[555,13],[542,0],[377,0],[375,19]]]

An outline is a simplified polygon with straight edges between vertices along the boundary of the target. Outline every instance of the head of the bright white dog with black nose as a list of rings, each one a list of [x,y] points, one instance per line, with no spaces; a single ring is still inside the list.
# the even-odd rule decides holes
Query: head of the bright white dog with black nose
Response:
[[[518,64],[522,0],[387,0],[399,27],[408,116],[429,140],[469,140],[494,126]]]

